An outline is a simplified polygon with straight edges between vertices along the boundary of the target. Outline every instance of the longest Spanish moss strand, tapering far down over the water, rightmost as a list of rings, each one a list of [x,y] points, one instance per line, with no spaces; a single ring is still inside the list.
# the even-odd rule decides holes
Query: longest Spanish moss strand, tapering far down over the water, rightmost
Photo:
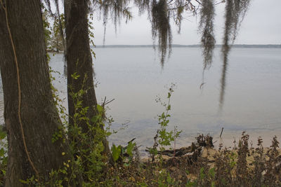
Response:
[[[220,93],[220,109],[223,107],[223,101],[226,90],[226,72],[228,69],[228,54],[230,52],[231,45],[234,43],[237,32],[240,28],[241,22],[244,19],[249,7],[250,0],[226,0],[225,10],[225,28],[223,36],[223,69],[221,74],[221,93]],[[231,44],[230,44],[231,43]]]

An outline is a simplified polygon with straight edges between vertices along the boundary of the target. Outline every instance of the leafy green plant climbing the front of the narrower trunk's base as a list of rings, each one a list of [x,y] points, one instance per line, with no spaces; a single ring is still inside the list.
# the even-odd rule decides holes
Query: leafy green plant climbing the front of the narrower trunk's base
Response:
[[[79,77],[78,74],[72,74],[73,79]],[[92,106],[97,111],[96,116],[92,116],[91,119],[87,117],[89,106],[84,107],[82,99],[86,94],[86,90],[84,90],[86,78],[87,76],[84,76],[81,90],[70,93],[74,101],[75,113],[73,116],[69,116],[69,118],[72,118],[73,124],[68,125],[68,134],[71,137],[70,154],[76,157],[70,162],[70,165],[73,165],[70,169],[76,176],[83,176],[84,181],[96,183],[102,175],[103,167],[107,164],[105,160],[108,160],[107,155],[104,154],[105,147],[103,145],[107,132],[103,130],[105,125],[103,106]],[[72,85],[70,85],[70,90],[73,90]],[[86,124],[86,132],[82,130],[81,124]],[[78,179],[71,180],[76,181]]]

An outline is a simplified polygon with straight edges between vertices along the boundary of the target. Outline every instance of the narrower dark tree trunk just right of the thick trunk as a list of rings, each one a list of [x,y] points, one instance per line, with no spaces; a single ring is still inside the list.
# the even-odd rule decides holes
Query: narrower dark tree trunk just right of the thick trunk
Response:
[[[93,84],[93,62],[91,57],[91,49],[89,44],[89,29],[88,29],[88,9],[89,0],[70,0],[65,1],[65,33],[66,33],[66,60],[67,60],[67,98],[68,111],[70,115],[70,125],[73,125],[72,116],[74,116],[74,100],[71,92],[77,93],[81,90],[84,84],[84,90],[87,90],[81,100],[82,106],[89,106],[86,117],[91,119],[96,116],[97,99]],[[72,78],[73,74],[80,77]],[[85,79],[86,78],[86,79]],[[83,81],[86,80],[84,83]],[[70,88],[71,86],[71,88]],[[79,123],[82,132],[86,133],[89,130],[88,125]],[[93,124],[96,125],[96,124]],[[102,127],[103,128],[103,127]],[[109,147],[106,139],[105,152],[109,153]]]

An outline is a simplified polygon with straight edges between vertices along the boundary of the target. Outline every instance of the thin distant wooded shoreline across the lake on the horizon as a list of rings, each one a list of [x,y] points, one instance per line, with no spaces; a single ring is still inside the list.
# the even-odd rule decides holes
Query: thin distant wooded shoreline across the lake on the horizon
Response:
[[[216,45],[216,48],[221,48],[222,45]],[[93,46],[91,46],[93,47]],[[96,46],[96,48],[153,48],[153,45],[106,45],[106,46]],[[155,46],[157,48],[157,46]],[[172,48],[200,48],[200,45],[171,45]],[[281,45],[276,44],[235,44],[233,48],[281,48]]]

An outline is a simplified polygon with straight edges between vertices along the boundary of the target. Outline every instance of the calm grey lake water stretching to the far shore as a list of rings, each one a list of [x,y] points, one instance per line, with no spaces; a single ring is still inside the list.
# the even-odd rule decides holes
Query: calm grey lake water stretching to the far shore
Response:
[[[243,130],[281,137],[281,49],[233,48],[221,113],[218,112],[222,65],[219,49],[215,51],[213,66],[204,74],[203,90],[200,90],[200,48],[174,48],[164,69],[152,48],[96,48],[95,52],[98,101],[102,102],[104,97],[115,99],[107,111],[115,119],[113,129],[122,127],[123,123],[128,125],[112,135],[110,141],[116,144],[125,144],[133,137],[143,148],[152,144],[159,127],[157,114],[164,109],[155,98],[159,95],[165,99],[164,87],[171,83],[176,83],[177,88],[171,99],[170,126],[183,130],[180,144],[189,144],[198,132],[218,136],[221,127],[230,139]],[[63,74],[63,55],[51,57],[50,64]],[[55,76],[55,87],[61,97],[66,97],[65,78]],[[1,91],[2,123],[3,110]]]

